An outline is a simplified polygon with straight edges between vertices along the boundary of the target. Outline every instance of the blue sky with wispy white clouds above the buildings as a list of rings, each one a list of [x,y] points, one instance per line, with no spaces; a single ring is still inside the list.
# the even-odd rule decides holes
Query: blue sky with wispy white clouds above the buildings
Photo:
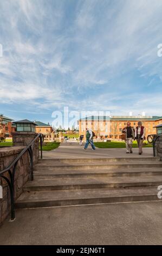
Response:
[[[0,113],[162,115],[162,0],[0,1]]]

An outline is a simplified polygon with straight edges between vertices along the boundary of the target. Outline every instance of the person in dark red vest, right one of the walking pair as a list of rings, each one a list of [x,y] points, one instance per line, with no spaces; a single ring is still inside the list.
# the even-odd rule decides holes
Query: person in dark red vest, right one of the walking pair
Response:
[[[139,121],[138,126],[135,129],[135,139],[137,139],[139,155],[142,154],[142,145],[145,139],[145,133],[146,133],[146,128],[142,126],[142,122]]]

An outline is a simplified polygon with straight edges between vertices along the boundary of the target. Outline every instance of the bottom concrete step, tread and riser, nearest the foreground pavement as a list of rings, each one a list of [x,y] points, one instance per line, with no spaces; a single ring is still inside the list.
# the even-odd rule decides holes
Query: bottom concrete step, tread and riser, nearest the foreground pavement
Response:
[[[16,208],[43,208],[85,204],[128,203],[160,200],[157,186],[134,188],[100,188],[90,190],[57,190],[24,192]]]

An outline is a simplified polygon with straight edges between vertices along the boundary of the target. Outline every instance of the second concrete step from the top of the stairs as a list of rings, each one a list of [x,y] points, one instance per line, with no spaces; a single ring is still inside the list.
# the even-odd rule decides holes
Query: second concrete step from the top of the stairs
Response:
[[[128,169],[128,168],[162,168],[162,162],[160,161],[122,161],[122,162],[111,162],[111,163],[60,163],[55,162],[55,164],[47,163],[45,164],[36,164],[34,166],[35,171],[50,171],[50,170],[103,170],[103,169]]]

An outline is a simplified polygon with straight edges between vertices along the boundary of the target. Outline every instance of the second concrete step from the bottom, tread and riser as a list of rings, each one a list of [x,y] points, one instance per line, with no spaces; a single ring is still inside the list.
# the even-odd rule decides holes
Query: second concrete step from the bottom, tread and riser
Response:
[[[161,175],[144,176],[116,176],[92,178],[58,178],[40,179],[28,181],[23,187],[24,191],[46,191],[46,190],[81,190],[89,188],[115,188],[115,187],[140,187],[158,186],[162,184]]]

